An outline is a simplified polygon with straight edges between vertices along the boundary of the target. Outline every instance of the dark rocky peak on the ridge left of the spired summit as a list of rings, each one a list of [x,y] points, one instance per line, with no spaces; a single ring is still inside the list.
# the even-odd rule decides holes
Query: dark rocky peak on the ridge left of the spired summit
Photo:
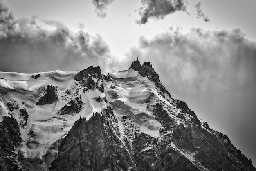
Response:
[[[103,80],[100,67],[90,66],[87,69],[80,71],[76,74],[75,80],[85,87],[84,91],[96,88],[103,92]]]

